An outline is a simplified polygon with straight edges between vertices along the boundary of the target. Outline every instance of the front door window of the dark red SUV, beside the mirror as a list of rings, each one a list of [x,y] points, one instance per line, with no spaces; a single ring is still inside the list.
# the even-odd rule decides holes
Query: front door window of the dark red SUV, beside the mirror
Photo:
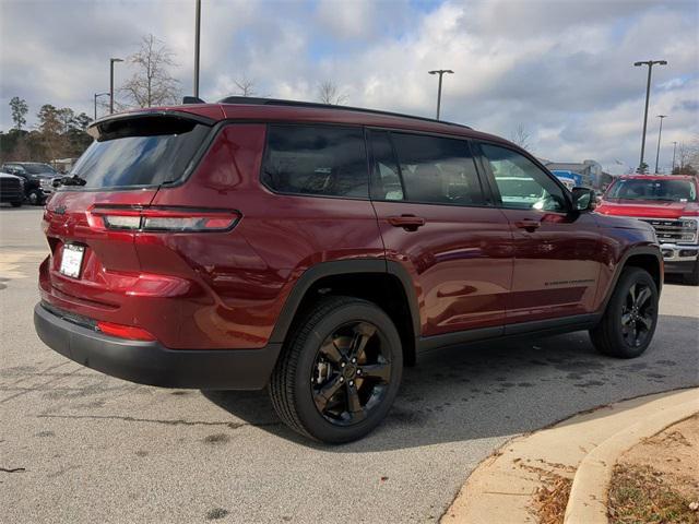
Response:
[[[497,145],[482,144],[506,207],[566,211],[564,190],[525,156]]]

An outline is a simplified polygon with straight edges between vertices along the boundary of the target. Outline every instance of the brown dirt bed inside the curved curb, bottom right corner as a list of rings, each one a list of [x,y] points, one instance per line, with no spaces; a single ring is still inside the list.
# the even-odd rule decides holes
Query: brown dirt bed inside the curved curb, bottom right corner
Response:
[[[621,455],[609,490],[609,522],[699,523],[699,414]]]

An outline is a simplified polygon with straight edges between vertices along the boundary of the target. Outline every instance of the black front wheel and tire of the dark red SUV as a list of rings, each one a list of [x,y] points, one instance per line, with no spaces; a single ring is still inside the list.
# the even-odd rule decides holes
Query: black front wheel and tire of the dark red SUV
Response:
[[[647,271],[625,267],[602,320],[590,331],[595,348],[617,358],[642,355],[657,325],[657,286]]]

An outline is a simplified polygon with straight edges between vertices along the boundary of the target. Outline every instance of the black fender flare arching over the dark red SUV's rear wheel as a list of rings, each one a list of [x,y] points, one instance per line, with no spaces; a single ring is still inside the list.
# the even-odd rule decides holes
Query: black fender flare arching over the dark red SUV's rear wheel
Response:
[[[407,270],[398,262],[387,261],[386,259],[352,259],[352,260],[333,260],[329,262],[320,262],[308,267],[298,277],[292,288],[282,311],[280,312],[269,343],[283,343],[288,334],[294,317],[298,311],[301,300],[306,293],[319,279],[328,276],[351,275],[360,273],[389,274],[395,276],[403,287],[403,293],[407,299],[407,308],[413,321],[413,334],[417,338],[420,334],[419,306],[413,278]]]

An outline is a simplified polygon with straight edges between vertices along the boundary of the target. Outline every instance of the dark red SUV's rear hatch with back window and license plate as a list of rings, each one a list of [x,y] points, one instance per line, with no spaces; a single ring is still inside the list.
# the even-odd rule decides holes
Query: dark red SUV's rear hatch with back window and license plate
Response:
[[[95,142],[44,214],[50,247],[39,276],[45,302],[91,319],[138,324],[132,312],[119,311],[138,296],[139,285],[147,285],[134,247],[144,210],[161,187],[176,184],[193,168],[212,124],[188,114],[153,111],[91,128]]]

